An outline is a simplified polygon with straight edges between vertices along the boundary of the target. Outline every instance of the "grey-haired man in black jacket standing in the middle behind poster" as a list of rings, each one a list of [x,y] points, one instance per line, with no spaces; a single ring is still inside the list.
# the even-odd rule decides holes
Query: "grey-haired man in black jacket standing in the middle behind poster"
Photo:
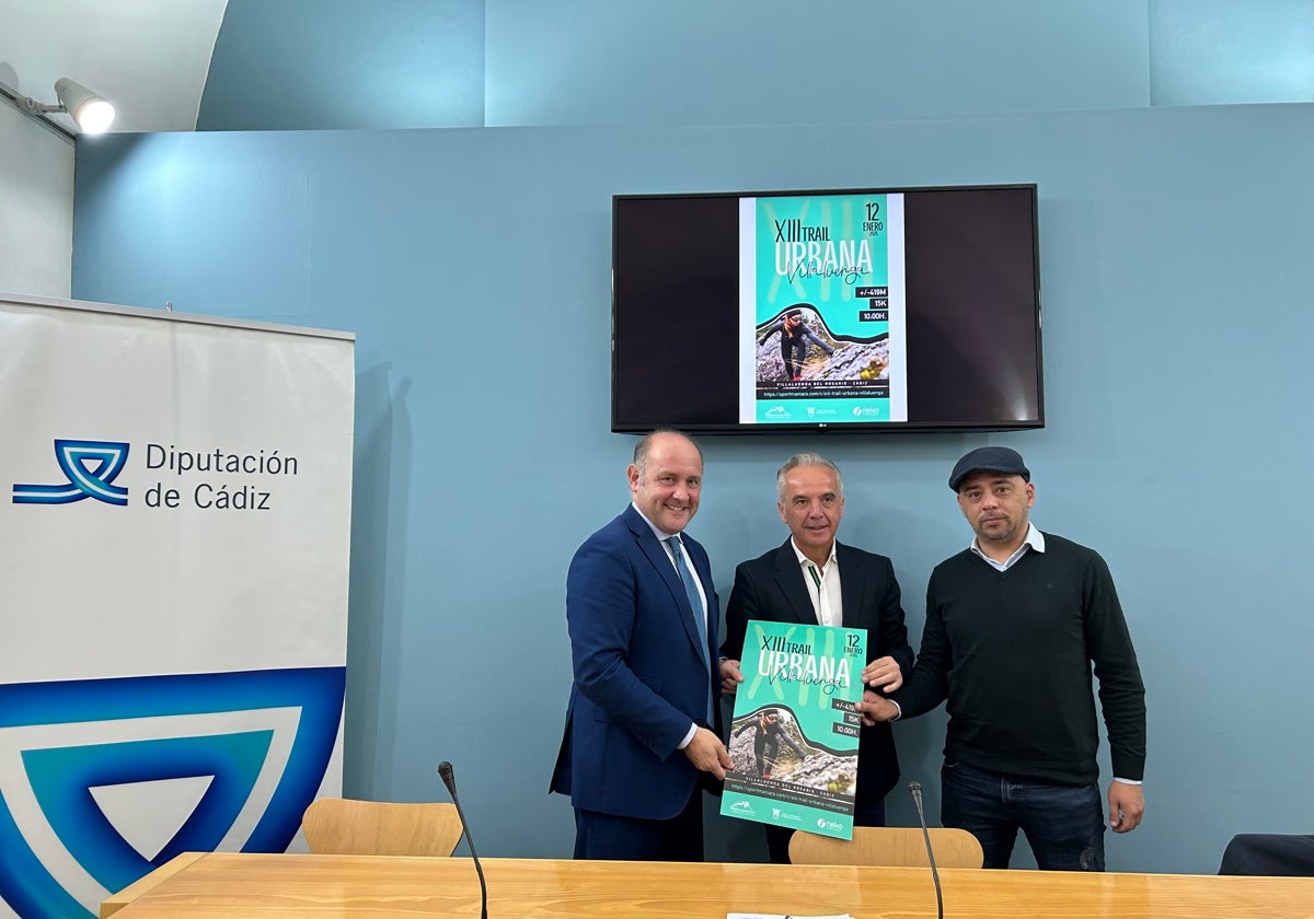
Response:
[[[735,570],[725,608],[721,691],[744,681],[740,655],[749,620],[802,622],[867,630],[869,670],[879,691],[897,689],[912,671],[899,582],[884,555],[836,541],[844,517],[844,481],[838,467],[816,453],[798,453],[775,477],[781,520],[790,528],[784,545]],[[872,693],[871,689],[867,691]],[[899,758],[888,725],[862,729],[858,740],[858,792],[854,823],[886,824],[886,794],[899,781]],[[791,830],[767,826],[771,861],[790,860]]]

